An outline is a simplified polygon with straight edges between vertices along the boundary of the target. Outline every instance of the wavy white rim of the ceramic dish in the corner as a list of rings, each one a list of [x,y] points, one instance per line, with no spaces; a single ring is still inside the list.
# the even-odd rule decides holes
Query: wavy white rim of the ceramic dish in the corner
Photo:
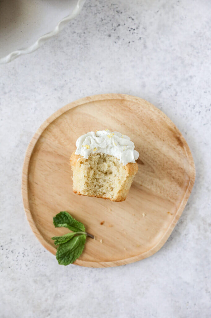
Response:
[[[17,49],[15,51],[12,51],[9,54],[1,57],[0,58],[0,64],[9,63],[12,60],[16,59],[17,57],[19,57],[19,56],[21,56],[23,54],[28,54],[28,53],[31,53],[31,52],[34,52],[35,50],[37,50],[49,38],[52,38],[54,35],[58,34],[70,20],[72,20],[75,17],[77,17],[77,15],[82,10],[85,1],[86,0],[78,0],[74,10],[67,17],[64,17],[62,20],[60,20],[56,24],[55,28],[52,31],[43,34],[33,44],[31,44],[28,47],[24,47],[22,49]]]

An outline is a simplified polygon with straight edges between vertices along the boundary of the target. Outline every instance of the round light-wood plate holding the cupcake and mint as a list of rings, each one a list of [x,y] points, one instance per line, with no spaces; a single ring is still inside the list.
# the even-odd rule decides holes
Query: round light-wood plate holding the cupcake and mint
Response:
[[[77,138],[106,128],[130,136],[140,154],[124,202],[78,196],[72,190],[69,157]],[[97,238],[86,240],[75,264],[109,267],[144,259],[163,246],[194,181],[190,149],[165,114],[138,97],[104,94],[68,104],[37,130],[24,160],[22,197],[29,224],[48,251],[56,253],[52,236],[68,232],[54,228],[53,217],[68,211]]]

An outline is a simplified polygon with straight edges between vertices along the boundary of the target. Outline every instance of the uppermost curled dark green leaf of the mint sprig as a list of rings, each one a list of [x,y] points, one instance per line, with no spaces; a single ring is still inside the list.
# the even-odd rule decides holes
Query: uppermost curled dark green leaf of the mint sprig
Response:
[[[85,232],[85,226],[83,225],[83,223],[75,220],[66,211],[62,211],[54,217],[54,226],[67,227],[70,231],[74,231],[74,232],[78,232],[78,231]]]

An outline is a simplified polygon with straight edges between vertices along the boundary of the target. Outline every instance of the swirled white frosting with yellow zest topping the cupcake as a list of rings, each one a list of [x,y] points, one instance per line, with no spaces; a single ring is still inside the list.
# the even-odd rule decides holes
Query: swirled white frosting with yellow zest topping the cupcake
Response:
[[[135,163],[139,153],[134,150],[134,143],[130,137],[122,135],[117,131],[110,132],[108,129],[99,130],[80,136],[76,141],[76,155],[88,156],[94,153],[112,155],[120,160],[125,166],[128,162]]]

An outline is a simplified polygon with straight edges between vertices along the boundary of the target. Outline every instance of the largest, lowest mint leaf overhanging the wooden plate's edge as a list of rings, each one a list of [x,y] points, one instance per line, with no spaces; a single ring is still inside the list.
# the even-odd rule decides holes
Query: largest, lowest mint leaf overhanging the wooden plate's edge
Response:
[[[56,259],[60,265],[72,264],[83,252],[86,242],[86,235],[74,236],[73,239],[59,245],[56,252]]]

